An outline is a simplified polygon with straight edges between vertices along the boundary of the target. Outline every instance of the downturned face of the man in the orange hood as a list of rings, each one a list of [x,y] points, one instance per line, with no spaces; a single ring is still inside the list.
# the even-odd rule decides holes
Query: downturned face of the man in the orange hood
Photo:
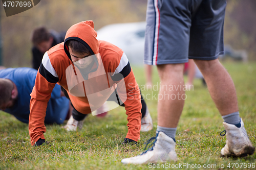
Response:
[[[93,56],[91,53],[77,53],[73,52],[69,46],[69,53],[73,63],[79,68],[87,68],[93,62]]]

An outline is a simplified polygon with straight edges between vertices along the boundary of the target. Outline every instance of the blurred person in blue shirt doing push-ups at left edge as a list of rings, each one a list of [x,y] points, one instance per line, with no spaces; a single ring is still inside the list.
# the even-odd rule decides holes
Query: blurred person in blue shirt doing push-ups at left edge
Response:
[[[30,93],[35,85],[37,70],[33,68],[6,68],[0,70],[0,109],[29,123]],[[55,85],[48,102],[45,124],[62,124],[70,116],[69,100]],[[71,108],[72,109],[72,108]]]

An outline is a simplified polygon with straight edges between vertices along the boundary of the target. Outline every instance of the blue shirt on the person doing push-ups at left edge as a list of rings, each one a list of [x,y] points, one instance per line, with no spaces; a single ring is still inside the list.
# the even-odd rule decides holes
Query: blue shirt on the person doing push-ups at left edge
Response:
[[[35,85],[37,70],[33,68],[7,68],[0,70],[0,78],[11,80],[17,86],[18,96],[12,108],[5,112],[14,115],[18,120],[29,123],[30,93]],[[62,124],[69,111],[69,100],[60,96],[60,85],[53,88],[48,102],[45,124]]]

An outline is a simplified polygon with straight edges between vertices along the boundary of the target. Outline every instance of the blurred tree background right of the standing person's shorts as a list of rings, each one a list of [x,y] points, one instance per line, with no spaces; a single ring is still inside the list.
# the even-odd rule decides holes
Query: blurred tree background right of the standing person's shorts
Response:
[[[224,43],[246,50],[249,61],[256,61],[256,1],[228,0],[224,22]]]

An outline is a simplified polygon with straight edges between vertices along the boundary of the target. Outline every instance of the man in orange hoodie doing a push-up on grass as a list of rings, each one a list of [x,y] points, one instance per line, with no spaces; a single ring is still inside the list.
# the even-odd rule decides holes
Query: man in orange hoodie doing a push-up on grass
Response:
[[[45,53],[31,93],[32,145],[45,143],[44,118],[56,83],[65,89],[75,108],[69,127],[81,126],[87,114],[112,100],[126,110],[128,132],[124,143],[140,139],[142,123],[147,130],[152,129],[150,113],[126,55],[119,47],[97,40],[96,36],[93,21],[79,22],[68,30],[64,42]]]

